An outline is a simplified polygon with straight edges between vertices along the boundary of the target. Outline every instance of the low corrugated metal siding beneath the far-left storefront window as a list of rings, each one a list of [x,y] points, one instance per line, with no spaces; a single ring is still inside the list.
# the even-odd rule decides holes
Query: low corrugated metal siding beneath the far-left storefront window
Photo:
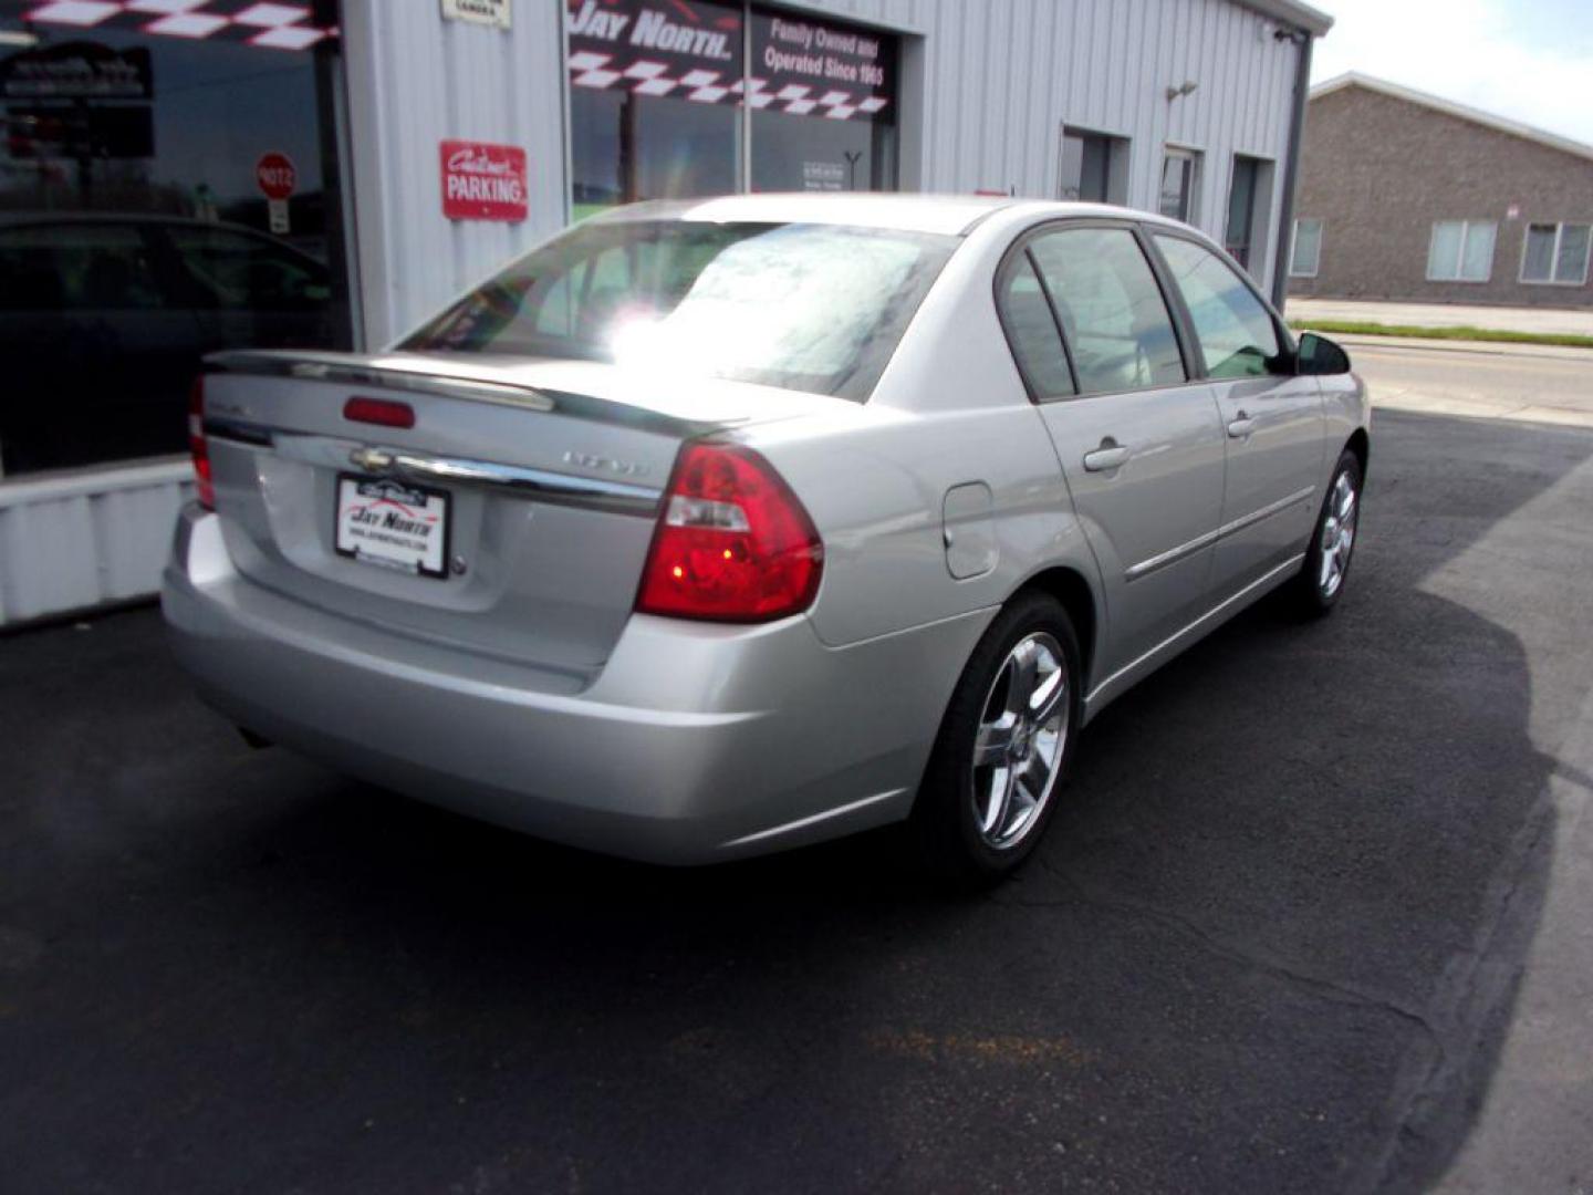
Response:
[[[0,626],[155,593],[191,465],[132,465],[0,486]]]

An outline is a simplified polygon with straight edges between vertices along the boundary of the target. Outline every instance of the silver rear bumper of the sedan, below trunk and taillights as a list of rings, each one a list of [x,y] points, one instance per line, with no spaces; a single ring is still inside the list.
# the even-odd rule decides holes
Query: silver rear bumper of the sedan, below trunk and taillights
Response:
[[[667,864],[906,816],[978,612],[846,648],[806,618],[634,617],[591,685],[397,636],[241,577],[190,507],[161,604],[223,714],[341,771],[538,836]]]

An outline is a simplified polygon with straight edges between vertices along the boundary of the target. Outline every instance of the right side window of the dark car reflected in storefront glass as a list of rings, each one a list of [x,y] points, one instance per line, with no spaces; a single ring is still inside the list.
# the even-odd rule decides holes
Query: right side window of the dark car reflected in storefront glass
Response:
[[[194,301],[226,311],[319,311],[331,298],[327,268],[264,237],[225,228],[170,229]]]

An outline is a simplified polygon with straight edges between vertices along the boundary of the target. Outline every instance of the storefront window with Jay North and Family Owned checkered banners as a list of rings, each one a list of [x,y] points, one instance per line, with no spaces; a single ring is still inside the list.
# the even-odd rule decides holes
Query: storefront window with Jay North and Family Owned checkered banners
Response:
[[[741,3],[569,0],[572,215],[894,190],[895,53],[890,37]]]

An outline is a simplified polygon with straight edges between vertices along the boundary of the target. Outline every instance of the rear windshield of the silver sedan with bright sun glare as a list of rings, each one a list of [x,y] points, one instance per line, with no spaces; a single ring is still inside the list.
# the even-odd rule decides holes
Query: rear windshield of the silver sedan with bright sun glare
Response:
[[[956,245],[835,225],[593,223],[398,347],[577,357],[862,402]]]

